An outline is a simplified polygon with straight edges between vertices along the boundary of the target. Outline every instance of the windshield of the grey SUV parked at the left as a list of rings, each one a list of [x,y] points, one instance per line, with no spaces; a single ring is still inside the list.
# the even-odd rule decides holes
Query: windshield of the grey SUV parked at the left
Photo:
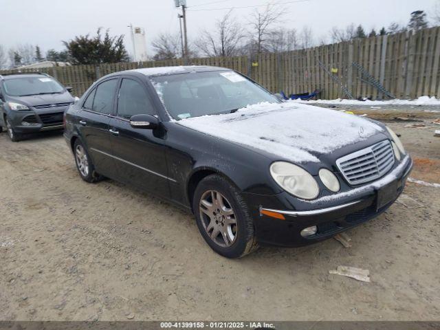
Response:
[[[30,96],[41,94],[61,94],[64,87],[56,80],[45,77],[20,77],[4,80],[3,88],[10,96]]]

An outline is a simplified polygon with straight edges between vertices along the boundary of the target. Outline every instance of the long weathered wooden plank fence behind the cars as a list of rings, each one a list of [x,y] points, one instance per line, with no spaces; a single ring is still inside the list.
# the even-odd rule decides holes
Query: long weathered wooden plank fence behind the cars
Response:
[[[345,93],[348,89],[353,98],[375,100],[386,98],[386,95],[366,82],[360,69],[355,67],[356,63],[396,98],[425,95],[440,98],[439,60],[440,27],[437,27],[414,34],[401,32],[278,54],[194,58],[190,64],[228,67],[250,76],[274,92],[292,94],[322,89],[320,98],[333,99],[348,98]],[[183,64],[183,60],[176,59],[21,71],[50,74],[64,85],[74,87],[75,94],[80,96],[94,80],[112,72]]]

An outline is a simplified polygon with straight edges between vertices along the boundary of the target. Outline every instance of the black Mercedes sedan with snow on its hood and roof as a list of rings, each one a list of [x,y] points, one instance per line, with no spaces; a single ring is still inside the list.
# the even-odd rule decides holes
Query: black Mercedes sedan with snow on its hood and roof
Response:
[[[191,210],[228,258],[376,217],[412,168],[380,122],[282,102],[219,67],[105,76],[67,110],[65,138],[85,181],[110,177]]]

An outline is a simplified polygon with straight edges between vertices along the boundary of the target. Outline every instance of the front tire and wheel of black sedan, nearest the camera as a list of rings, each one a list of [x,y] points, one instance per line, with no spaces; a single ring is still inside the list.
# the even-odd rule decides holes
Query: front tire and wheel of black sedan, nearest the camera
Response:
[[[234,259],[258,248],[248,206],[224,177],[209,175],[202,179],[192,203],[197,227],[212,250]]]

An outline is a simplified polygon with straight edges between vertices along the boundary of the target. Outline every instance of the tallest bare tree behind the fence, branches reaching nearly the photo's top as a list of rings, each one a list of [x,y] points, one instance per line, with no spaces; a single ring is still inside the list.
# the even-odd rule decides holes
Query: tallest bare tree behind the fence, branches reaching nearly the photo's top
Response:
[[[267,47],[267,39],[273,32],[273,26],[281,21],[285,14],[284,8],[267,5],[264,12],[254,10],[250,16],[250,34],[255,51],[262,53]]]

